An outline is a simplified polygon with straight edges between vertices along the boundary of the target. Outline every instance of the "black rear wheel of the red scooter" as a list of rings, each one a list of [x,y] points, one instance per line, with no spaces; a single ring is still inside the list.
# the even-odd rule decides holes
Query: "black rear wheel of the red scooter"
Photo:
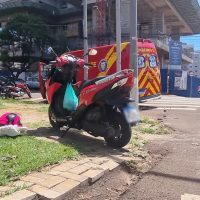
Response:
[[[115,130],[115,136],[105,137],[108,146],[119,149],[127,145],[131,139],[131,127],[122,113],[112,111],[108,116],[109,124]]]

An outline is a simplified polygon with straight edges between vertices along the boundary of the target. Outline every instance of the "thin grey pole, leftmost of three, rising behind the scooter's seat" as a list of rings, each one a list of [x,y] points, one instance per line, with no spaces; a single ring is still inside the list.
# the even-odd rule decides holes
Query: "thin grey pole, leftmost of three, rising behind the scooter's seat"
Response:
[[[88,62],[87,0],[83,0],[84,59]],[[88,68],[84,68],[84,80],[88,80]]]

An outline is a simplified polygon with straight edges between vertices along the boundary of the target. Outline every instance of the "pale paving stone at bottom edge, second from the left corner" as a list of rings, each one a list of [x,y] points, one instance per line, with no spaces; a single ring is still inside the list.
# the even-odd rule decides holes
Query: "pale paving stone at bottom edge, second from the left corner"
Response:
[[[40,186],[40,185],[34,185],[29,190],[47,199],[51,199],[51,200],[62,199],[61,193],[56,192],[52,189]]]

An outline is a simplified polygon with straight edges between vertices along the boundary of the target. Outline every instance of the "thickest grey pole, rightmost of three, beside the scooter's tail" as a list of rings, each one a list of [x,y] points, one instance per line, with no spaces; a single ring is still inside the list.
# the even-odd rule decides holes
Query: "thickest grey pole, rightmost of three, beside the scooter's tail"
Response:
[[[137,51],[137,0],[130,0],[130,68],[134,71],[134,86],[131,97],[135,100],[134,106],[139,110],[138,92],[138,51]]]

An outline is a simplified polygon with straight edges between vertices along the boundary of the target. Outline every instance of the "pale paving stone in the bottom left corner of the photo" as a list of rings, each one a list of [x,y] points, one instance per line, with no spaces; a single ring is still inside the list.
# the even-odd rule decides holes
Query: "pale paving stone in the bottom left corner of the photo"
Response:
[[[29,190],[20,190],[0,200],[34,200],[37,194]]]

